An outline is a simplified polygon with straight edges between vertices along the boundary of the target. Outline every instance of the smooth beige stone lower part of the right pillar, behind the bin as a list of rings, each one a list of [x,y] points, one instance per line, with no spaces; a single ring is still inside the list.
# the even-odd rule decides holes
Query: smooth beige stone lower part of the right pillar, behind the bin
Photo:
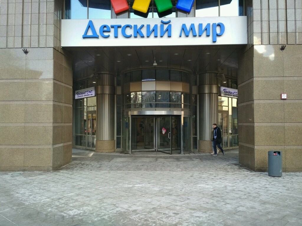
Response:
[[[239,62],[239,163],[268,171],[268,151],[283,172],[302,170],[302,45],[252,46]],[[287,99],[281,99],[281,93]]]

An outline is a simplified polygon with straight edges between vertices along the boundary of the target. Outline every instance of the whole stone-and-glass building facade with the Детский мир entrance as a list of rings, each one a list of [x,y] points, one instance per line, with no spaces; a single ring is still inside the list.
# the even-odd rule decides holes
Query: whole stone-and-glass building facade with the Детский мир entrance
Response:
[[[211,152],[213,123],[240,164],[302,170],[301,0],[114,2],[1,1],[0,170]]]

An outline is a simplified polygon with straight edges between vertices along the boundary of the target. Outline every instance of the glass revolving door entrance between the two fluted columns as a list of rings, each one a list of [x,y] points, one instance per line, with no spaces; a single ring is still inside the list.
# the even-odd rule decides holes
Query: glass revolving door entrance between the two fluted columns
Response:
[[[189,125],[190,117],[181,115],[126,117],[124,118],[123,152],[129,154],[146,151],[168,154],[189,153],[191,152]]]

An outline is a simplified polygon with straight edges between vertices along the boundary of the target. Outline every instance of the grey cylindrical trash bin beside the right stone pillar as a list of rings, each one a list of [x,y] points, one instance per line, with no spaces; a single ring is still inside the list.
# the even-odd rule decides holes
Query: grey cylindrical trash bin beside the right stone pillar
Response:
[[[268,152],[268,176],[282,177],[282,151]]]

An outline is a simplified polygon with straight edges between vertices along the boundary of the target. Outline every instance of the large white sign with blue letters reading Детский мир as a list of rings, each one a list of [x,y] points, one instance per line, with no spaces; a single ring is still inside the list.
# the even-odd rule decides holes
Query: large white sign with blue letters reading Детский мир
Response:
[[[62,20],[61,46],[247,44],[246,16]]]

